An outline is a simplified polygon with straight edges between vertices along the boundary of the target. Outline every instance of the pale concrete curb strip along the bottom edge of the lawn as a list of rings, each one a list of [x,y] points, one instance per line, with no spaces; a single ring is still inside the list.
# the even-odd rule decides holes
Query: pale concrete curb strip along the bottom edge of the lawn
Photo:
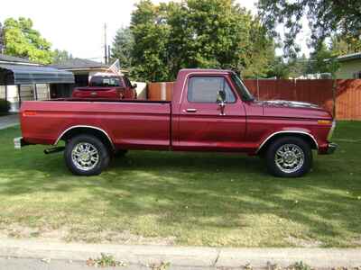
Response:
[[[0,239],[0,257],[51,258],[85,261],[100,253],[131,265],[169,262],[171,266],[264,268],[267,262],[290,266],[295,262],[317,268],[361,266],[361,248],[214,248],[93,245],[40,240]]]

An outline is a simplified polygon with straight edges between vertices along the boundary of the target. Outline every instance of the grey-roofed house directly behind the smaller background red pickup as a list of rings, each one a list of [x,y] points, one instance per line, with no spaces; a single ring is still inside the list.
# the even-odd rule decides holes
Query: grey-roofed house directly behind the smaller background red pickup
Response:
[[[91,76],[98,72],[110,72],[108,70],[108,65],[82,58],[71,58],[58,64],[51,65],[51,67],[69,71],[74,75],[75,79],[73,85],[52,85],[51,98],[69,97],[71,96],[74,87],[88,86],[88,81]],[[121,71],[122,73],[127,72],[126,70]]]

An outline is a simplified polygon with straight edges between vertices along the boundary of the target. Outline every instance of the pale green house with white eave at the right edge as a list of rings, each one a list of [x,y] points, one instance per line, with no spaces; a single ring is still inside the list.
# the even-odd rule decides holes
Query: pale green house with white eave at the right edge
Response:
[[[339,68],[337,78],[355,79],[361,78],[361,52],[347,54],[338,57]]]

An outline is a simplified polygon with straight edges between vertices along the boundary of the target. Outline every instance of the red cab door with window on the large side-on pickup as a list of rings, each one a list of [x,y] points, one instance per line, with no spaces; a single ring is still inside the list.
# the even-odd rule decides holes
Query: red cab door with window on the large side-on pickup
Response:
[[[218,93],[226,94],[224,110]],[[184,150],[242,148],[245,138],[245,107],[227,75],[194,75],[188,78],[181,97],[178,146]]]

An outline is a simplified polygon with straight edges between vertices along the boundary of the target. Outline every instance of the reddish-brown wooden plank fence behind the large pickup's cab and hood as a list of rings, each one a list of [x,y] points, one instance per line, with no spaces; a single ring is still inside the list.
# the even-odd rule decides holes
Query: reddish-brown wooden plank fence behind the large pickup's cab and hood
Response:
[[[174,83],[148,85],[148,99],[171,100]],[[333,112],[332,80],[245,80],[247,88],[260,100],[292,100],[316,103]],[[361,120],[361,79],[338,80],[336,118]]]

